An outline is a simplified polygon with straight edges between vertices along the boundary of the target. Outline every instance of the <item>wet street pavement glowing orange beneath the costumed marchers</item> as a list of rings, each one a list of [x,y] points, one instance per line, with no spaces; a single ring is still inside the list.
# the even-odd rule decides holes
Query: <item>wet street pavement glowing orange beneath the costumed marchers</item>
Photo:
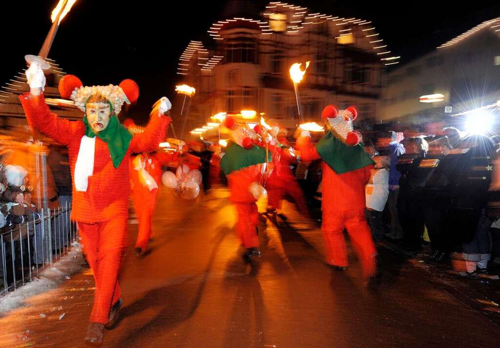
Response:
[[[473,295],[383,245],[376,287],[361,278],[352,248],[347,271],[328,267],[319,228],[289,203],[287,223],[261,215],[262,256],[245,263],[227,197],[225,188],[196,201],[163,190],[148,251],[138,259],[130,246],[123,261],[124,305],[102,346],[500,346],[500,328]],[[134,237],[133,215],[129,222]],[[32,297],[0,318],[0,347],[84,346],[92,290],[85,269]]]

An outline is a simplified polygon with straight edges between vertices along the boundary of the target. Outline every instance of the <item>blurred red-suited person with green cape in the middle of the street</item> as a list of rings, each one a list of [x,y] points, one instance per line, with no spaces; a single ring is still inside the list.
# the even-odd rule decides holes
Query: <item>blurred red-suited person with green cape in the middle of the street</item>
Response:
[[[262,165],[266,163],[265,150],[255,145],[254,131],[236,124],[227,116],[224,125],[230,130],[231,140],[220,160],[220,167],[227,177],[230,201],[236,207],[236,232],[246,248],[246,258],[260,256],[258,249],[258,211],[255,202],[265,189],[259,184]],[[267,156],[270,160],[270,155]]]

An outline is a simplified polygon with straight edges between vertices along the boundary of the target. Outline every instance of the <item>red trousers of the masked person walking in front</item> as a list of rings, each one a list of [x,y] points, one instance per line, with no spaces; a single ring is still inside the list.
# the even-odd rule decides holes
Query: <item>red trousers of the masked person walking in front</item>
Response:
[[[90,322],[107,323],[111,305],[121,297],[118,271],[127,246],[127,218],[99,223],[78,223],[83,250],[95,279]]]

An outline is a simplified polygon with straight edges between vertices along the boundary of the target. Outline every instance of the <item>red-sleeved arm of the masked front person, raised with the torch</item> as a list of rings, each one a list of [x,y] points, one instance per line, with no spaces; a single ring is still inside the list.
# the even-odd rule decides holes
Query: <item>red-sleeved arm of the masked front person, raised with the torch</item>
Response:
[[[19,95],[19,100],[26,114],[28,124],[55,141],[67,145],[75,135],[84,134],[83,122],[60,118],[55,113],[50,112],[47,104],[45,104],[43,94],[24,93]]]

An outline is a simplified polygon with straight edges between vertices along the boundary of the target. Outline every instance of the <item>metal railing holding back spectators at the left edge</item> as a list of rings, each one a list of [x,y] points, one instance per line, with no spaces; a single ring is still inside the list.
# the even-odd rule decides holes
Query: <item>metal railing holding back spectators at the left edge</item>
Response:
[[[78,239],[71,205],[22,216],[0,232],[0,296],[37,277],[64,256]]]

